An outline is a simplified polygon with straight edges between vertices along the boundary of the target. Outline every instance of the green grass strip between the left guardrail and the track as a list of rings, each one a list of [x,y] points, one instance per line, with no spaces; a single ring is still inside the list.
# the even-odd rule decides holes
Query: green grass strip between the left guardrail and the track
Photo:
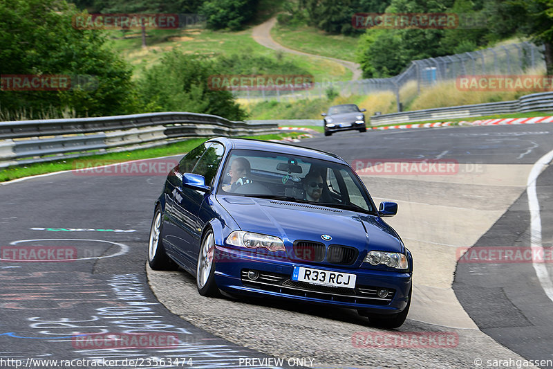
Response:
[[[297,138],[301,132],[285,132],[281,134],[264,134],[259,136],[243,136],[244,138],[255,138],[258,140],[280,140],[285,137]],[[207,138],[191,138],[187,141],[171,143],[169,145],[152,147],[143,150],[133,150],[129,152],[113,152],[110,154],[100,154],[91,156],[82,156],[74,159],[60,159],[48,163],[35,163],[29,165],[12,166],[0,170],[0,182],[11,181],[22,177],[29,177],[37,174],[59,172],[62,170],[72,170],[79,168],[79,163],[90,163],[91,161],[100,161],[106,164],[121,163],[124,161],[151,159],[161,156],[184,155],[194,147],[203,143]]]

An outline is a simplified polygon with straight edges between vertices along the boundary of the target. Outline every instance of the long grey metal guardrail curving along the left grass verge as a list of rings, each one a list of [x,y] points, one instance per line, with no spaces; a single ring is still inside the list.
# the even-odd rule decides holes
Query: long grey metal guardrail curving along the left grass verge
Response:
[[[276,123],[233,122],[185,112],[1,122],[0,168],[136,150],[194,137],[277,132]]]

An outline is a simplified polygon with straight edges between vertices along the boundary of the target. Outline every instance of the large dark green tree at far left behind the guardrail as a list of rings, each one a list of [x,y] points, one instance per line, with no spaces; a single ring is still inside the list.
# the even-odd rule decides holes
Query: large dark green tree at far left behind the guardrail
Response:
[[[77,116],[134,112],[131,67],[105,46],[98,30],[73,28],[77,15],[64,0],[0,2],[0,65],[3,75],[88,75],[96,85],[71,91],[0,91],[3,111],[41,111]],[[37,21],[39,20],[39,21]]]

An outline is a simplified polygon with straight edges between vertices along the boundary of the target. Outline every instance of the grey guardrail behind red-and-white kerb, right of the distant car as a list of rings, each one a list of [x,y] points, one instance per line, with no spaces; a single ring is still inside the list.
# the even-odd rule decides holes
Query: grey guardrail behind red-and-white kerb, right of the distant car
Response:
[[[494,114],[511,114],[527,111],[553,110],[553,92],[532,93],[518,100],[489,102],[486,104],[460,105],[457,107],[440,107],[401,113],[371,116],[372,125],[386,125],[409,122],[424,122],[425,120],[469,118],[489,116]]]

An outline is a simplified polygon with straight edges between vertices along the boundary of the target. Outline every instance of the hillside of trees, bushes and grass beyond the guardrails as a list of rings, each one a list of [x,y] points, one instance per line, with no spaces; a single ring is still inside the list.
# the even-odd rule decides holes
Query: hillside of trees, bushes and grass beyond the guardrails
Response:
[[[451,29],[384,29],[358,26],[358,12],[449,12],[481,24]],[[203,17],[188,28],[81,29],[72,19],[88,13],[187,13]],[[89,83],[53,91],[8,89],[0,93],[0,118],[109,116],[181,110],[229,119],[314,117],[337,101],[359,102],[369,112],[395,111],[391,93],[301,102],[240,101],[214,91],[214,74],[311,74],[315,81],[348,80],[351,72],[318,57],[265,48],[252,26],[277,16],[272,35],[308,53],[356,60],[365,77],[396,75],[411,60],[492,46],[525,37],[545,44],[553,73],[550,0],[3,0],[0,63],[3,75],[81,75]],[[41,19],[37,24],[36,19]],[[465,24],[466,26],[466,24]],[[170,66],[170,68],[169,68]],[[460,93],[439,85],[400,91],[406,109],[512,99],[513,93]]]

